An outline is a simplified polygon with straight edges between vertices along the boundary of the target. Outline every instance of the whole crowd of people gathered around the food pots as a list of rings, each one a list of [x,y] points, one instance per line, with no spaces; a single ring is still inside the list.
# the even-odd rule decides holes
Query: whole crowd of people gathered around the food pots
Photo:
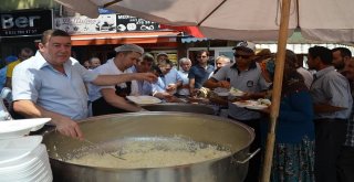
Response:
[[[84,138],[77,124],[90,116],[146,111],[126,96],[149,95],[179,101],[201,88],[237,88],[242,96],[228,96],[218,105],[230,120],[254,129],[250,150],[266,148],[269,113],[248,109],[235,100],[270,98],[277,54],[256,52],[250,42],[233,49],[235,63],[226,56],[208,64],[208,51],[197,63],[183,57],[175,65],[166,53],[155,57],[135,44],[115,47],[115,57],[101,65],[92,57],[83,65],[71,57],[71,38],[61,30],[43,33],[39,50],[23,49],[8,57],[0,69],[2,85],[12,88],[13,110],[25,118],[50,117],[62,135]],[[309,49],[309,68],[287,50],[271,181],[354,181],[354,58],[345,47]],[[9,79],[9,81],[8,81]],[[210,99],[212,101],[212,99]],[[244,181],[260,179],[261,154],[249,165]]]

